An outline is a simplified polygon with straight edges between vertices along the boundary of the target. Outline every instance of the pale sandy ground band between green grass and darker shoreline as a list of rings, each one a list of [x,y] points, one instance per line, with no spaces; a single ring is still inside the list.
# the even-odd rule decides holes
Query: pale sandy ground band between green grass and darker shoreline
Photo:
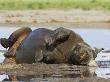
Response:
[[[101,10],[0,11],[0,23],[90,23],[110,22],[110,12]]]

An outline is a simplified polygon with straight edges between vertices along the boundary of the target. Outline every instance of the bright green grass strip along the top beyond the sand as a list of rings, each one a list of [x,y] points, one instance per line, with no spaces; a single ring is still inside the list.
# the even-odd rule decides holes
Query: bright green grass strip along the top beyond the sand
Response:
[[[0,0],[1,10],[73,8],[110,10],[110,0]]]

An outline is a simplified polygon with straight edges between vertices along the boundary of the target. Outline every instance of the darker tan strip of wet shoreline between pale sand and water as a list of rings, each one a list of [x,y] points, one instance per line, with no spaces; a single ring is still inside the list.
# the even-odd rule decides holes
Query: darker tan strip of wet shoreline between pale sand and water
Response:
[[[110,23],[0,23],[0,28],[21,28],[21,27],[34,27],[34,28],[104,28],[110,29]],[[89,28],[88,28],[89,27]]]

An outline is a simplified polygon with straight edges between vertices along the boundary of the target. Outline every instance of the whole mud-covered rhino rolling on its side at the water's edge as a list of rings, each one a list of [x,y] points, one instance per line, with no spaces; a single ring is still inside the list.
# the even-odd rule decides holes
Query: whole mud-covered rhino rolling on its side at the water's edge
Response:
[[[8,48],[4,54],[4,63],[75,64],[96,66],[96,52],[80,35],[65,28],[50,30],[39,28],[21,28],[13,32],[8,39],[1,38],[0,43]],[[12,62],[13,61],[13,62]]]

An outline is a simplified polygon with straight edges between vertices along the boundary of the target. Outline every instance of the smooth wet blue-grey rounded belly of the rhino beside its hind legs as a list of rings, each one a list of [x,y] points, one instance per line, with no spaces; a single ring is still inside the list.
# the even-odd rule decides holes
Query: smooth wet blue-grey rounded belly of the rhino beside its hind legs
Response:
[[[53,31],[39,28],[29,34],[16,51],[17,63],[35,63],[43,59],[45,52],[45,37],[52,34]]]

